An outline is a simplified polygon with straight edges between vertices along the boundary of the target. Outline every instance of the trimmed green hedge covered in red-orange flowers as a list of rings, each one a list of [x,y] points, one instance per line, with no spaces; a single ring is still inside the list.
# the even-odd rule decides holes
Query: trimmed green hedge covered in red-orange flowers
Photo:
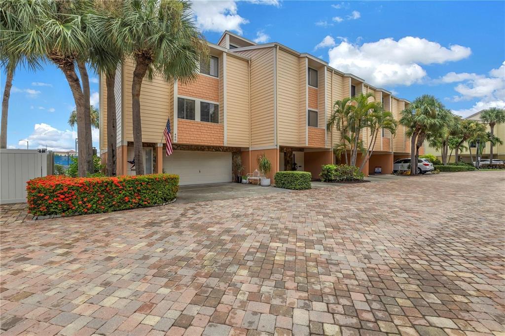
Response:
[[[171,174],[71,178],[46,176],[27,182],[34,216],[111,212],[173,201],[179,176]]]

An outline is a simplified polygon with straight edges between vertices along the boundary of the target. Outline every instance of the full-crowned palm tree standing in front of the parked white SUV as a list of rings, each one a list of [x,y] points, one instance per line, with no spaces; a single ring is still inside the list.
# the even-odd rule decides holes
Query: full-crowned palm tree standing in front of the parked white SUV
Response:
[[[421,134],[424,137],[424,133],[442,128],[446,122],[446,112],[437,98],[425,94],[401,112],[399,122],[409,128],[407,134],[411,136],[411,162],[417,162],[418,136]],[[417,164],[411,164],[411,175],[416,173]]]

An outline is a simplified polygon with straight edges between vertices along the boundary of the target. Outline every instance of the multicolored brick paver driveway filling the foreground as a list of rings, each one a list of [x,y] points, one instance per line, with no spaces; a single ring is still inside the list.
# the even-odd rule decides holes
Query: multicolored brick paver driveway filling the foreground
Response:
[[[4,223],[1,329],[503,335],[504,186],[469,172]]]

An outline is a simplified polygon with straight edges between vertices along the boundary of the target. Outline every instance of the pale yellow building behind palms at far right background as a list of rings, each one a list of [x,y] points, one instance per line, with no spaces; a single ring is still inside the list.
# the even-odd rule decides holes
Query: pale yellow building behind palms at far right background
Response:
[[[480,118],[480,115],[482,114],[483,111],[484,110],[478,111],[477,113],[475,113],[471,116],[468,116],[465,119],[475,120],[480,123],[483,123]],[[486,131],[487,132],[491,131],[491,128],[487,124],[486,124]],[[494,136],[500,138],[501,141],[505,141],[505,123],[496,124],[494,126],[493,133],[494,133]],[[468,146],[468,143],[465,143],[464,145]],[[480,144],[480,145],[482,145],[482,144]],[[433,155],[437,156],[440,160],[442,159],[442,154],[441,154],[440,150],[436,150],[435,148],[430,147],[428,145],[427,141],[425,142],[425,148],[426,148],[426,153],[433,154]],[[481,159],[483,159],[483,158],[488,159],[489,158],[490,149],[491,149],[491,143],[486,142],[485,147],[482,149]],[[471,162],[472,159],[470,158],[470,150],[472,151],[473,160],[475,160],[475,153],[477,152],[477,143],[475,141],[472,141],[470,143],[470,149],[467,148],[467,149],[460,151],[460,153],[459,153],[460,158],[464,161]],[[503,144],[503,145],[496,144],[495,146],[493,146],[493,159],[505,160],[505,144]],[[455,155],[453,152],[450,157],[450,162],[455,162]]]

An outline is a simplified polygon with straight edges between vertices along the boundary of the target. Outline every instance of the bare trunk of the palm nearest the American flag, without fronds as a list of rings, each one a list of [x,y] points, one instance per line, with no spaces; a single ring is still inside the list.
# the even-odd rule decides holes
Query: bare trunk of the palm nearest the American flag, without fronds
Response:
[[[142,153],[142,123],[140,119],[140,89],[142,80],[147,72],[147,59],[143,55],[136,56],[133,82],[131,85],[133,147],[135,153],[135,174],[144,175],[144,156]]]

